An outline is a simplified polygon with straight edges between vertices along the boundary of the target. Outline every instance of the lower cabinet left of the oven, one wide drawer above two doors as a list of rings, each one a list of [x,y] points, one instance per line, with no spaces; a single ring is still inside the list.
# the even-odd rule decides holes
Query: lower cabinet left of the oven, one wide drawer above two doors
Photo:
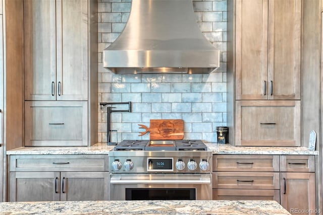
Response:
[[[107,159],[107,155],[12,155],[9,201],[109,200]]]

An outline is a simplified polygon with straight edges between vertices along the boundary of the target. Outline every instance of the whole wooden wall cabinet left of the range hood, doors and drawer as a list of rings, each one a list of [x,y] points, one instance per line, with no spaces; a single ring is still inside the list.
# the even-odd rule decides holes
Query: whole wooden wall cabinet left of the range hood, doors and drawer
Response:
[[[94,2],[24,1],[25,146],[96,142]]]

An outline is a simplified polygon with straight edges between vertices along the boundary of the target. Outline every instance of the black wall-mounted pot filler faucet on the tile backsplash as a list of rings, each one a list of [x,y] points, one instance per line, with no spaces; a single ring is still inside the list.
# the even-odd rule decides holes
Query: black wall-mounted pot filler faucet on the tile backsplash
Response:
[[[128,109],[114,109],[112,105],[128,105]],[[118,134],[117,134],[117,142],[111,142],[111,132],[117,132],[117,130],[111,129],[111,112],[129,112],[131,113],[131,102],[100,102],[100,109],[102,106],[107,106],[107,145],[116,146],[118,143]]]

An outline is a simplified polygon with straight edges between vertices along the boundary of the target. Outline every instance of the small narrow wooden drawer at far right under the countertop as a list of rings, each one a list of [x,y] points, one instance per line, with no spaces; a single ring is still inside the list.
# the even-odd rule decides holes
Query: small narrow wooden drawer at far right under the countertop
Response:
[[[281,172],[315,172],[311,155],[281,155]]]

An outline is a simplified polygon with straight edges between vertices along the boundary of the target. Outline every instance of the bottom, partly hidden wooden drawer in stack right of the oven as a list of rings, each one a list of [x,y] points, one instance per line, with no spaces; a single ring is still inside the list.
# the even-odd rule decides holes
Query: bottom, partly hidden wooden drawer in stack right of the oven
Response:
[[[280,203],[279,190],[213,189],[213,200],[275,200]]]

